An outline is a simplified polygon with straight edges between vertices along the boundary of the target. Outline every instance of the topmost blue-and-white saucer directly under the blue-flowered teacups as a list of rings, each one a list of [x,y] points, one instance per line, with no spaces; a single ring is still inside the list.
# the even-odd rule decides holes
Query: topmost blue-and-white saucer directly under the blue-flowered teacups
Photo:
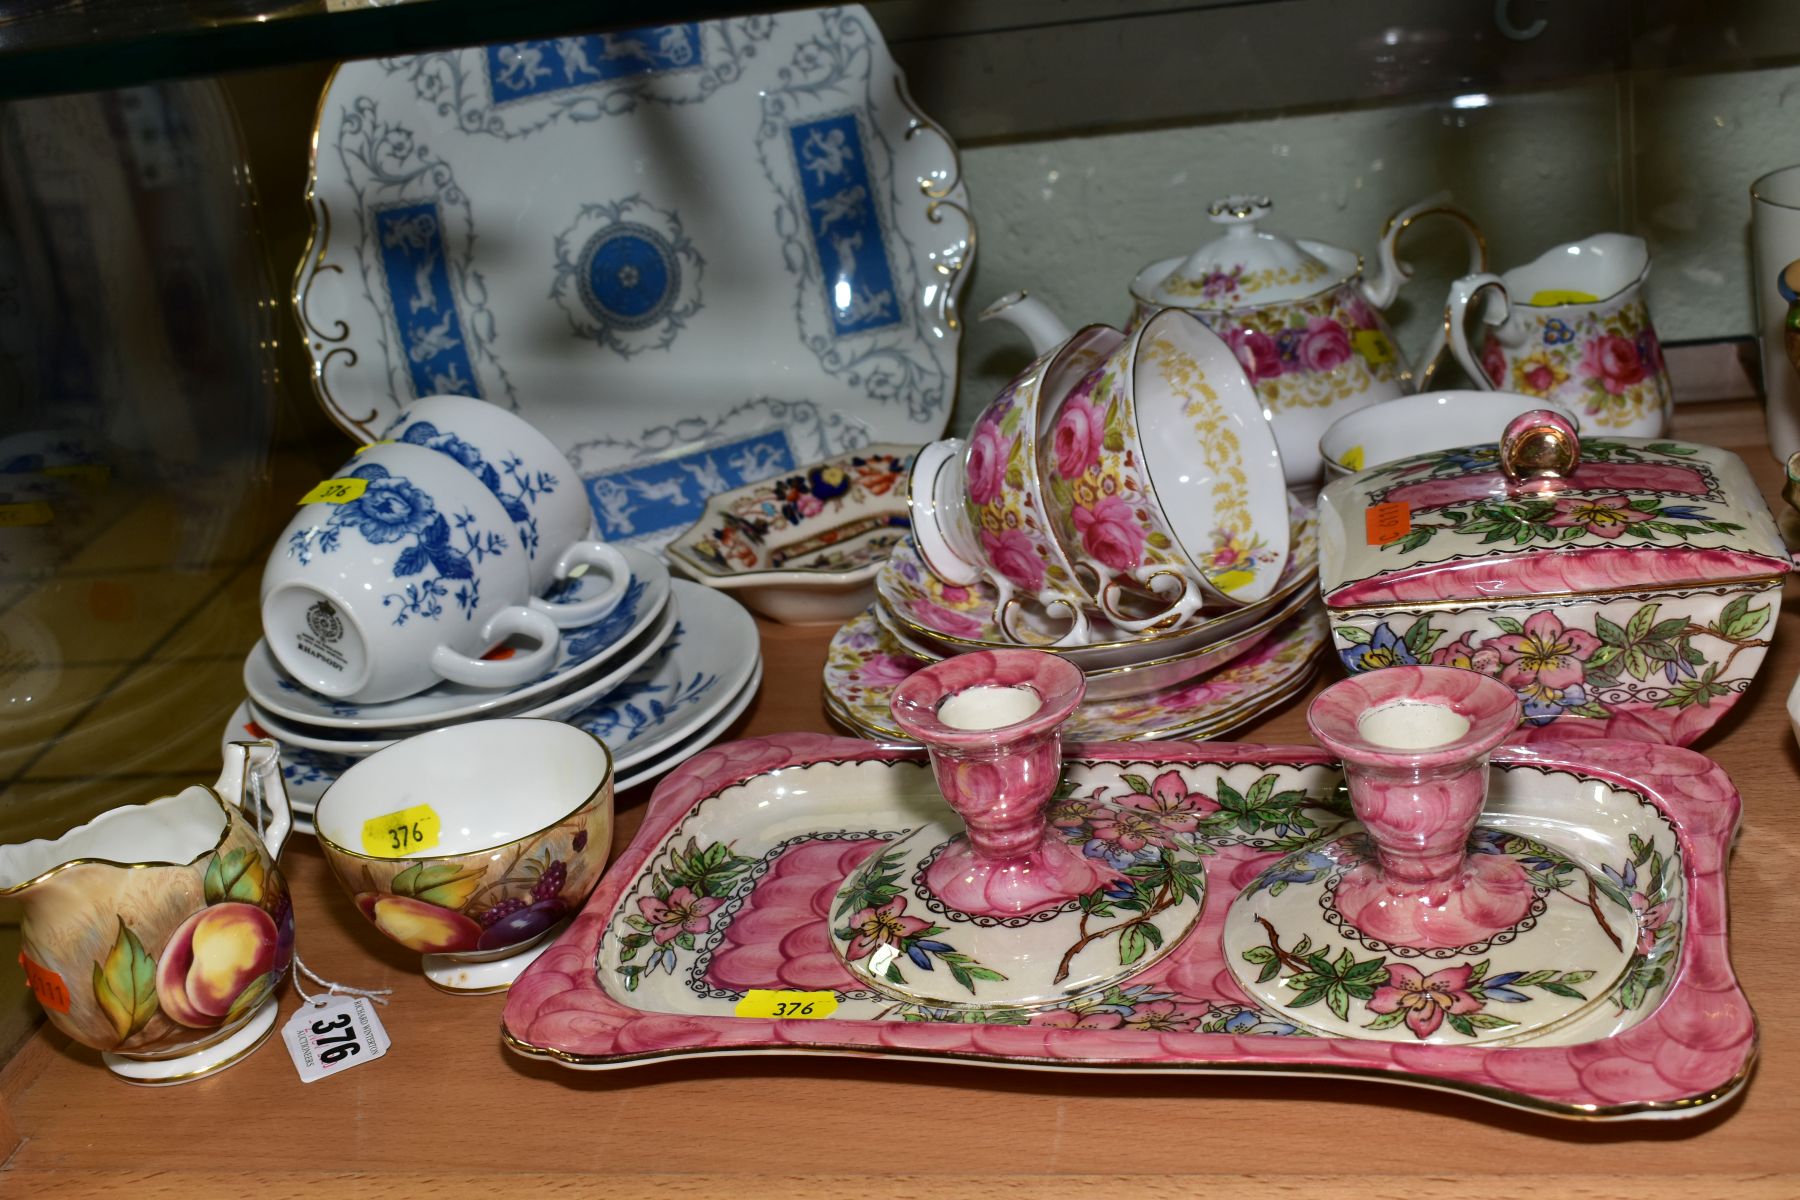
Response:
[[[313,725],[319,729],[401,730],[461,721],[472,716],[517,711],[533,700],[545,700],[558,691],[569,691],[587,675],[599,671],[608,660],[630,648],[639,633],[648,630],[670,599],[670,572],[655,554],[619,547],[632,567],[632,585],[625,599],[610,613],[592,624],[562,631],[554,666],[536,680],[518,687],[468,687],[439,684],[416,696],[383,703],[344,703],[311,693],[292,678],[257,642],[243,664],[243,684],[256,705],[275,718]],[[574,601],[581,597],[583,579],[567,579],[547,599]]]

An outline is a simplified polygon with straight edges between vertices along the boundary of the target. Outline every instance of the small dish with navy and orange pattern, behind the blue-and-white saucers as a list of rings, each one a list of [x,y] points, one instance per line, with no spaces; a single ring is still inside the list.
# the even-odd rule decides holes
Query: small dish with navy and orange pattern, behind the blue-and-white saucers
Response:
[[[724,491],[664,549],[670,565],[774,621],[844,621],[873,599],[875,574],[911,529],[916,452],[864,446]]]

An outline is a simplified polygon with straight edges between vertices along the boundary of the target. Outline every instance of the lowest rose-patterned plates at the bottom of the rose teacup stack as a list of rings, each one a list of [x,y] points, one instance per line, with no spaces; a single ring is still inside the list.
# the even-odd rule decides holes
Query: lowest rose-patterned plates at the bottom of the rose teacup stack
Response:
[[[1318,603],[1282,622],[1256,649],[1201,680],[1141,696],[1082,703],[1064,727],[1071,741],[1138,741],[1215,736],[1219,721],[1251,720],[1289,700],[1312,678],[1328,630]],[[824,660],[826,712],[887,743],[907,738],[887,712],[895,684],[925,662],[914,658],[864,612],[832,639]],[[1204,730],[1204,732],[1202,732]]]

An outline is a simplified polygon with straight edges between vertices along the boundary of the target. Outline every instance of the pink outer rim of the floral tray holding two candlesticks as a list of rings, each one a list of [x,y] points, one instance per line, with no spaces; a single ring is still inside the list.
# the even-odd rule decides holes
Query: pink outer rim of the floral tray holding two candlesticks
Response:
[[[1069,745],[1066,754],[1096,763],[1332,763],[1312,747],[1251,743],[1094,743]],[[823,1052],[1120,1074],[1382,1079],[1575,1119],[1696,1115],[1737,1094],[1755,1061],[1755,1018],[1726,946],[1724,865],[1742,802],[1724,770],[1705,756],[1647,743],[1537,743],[1494,756],[1498,765],[1562,770],[1642,793],[1679,838],[1688,900],[1674,981],[1654,1013],[1597,1042],[1404,1045],[1231,1033],[689,1016],[634,1009],[601,990],[598,948],[614,910],[662,838],[700,802],[783,768],[918,757],[806,732],[725,743],[682,765],[657,788],[643,828],[583,912],[513,986],[502,1029],[508,1047],[578,1069],[702,1054]]]

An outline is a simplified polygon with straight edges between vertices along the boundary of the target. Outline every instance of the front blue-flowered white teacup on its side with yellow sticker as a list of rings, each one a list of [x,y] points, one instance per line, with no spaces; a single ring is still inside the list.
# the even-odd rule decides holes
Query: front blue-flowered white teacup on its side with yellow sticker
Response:
[[[301,507],[263,569],[263,633],[299,684],[398,700],[454,680],[517,687],[549,669],[556,624],[493,493],[423,446],[371,446],[340,497]],[[535,642],[482,655],[511,637]]]

